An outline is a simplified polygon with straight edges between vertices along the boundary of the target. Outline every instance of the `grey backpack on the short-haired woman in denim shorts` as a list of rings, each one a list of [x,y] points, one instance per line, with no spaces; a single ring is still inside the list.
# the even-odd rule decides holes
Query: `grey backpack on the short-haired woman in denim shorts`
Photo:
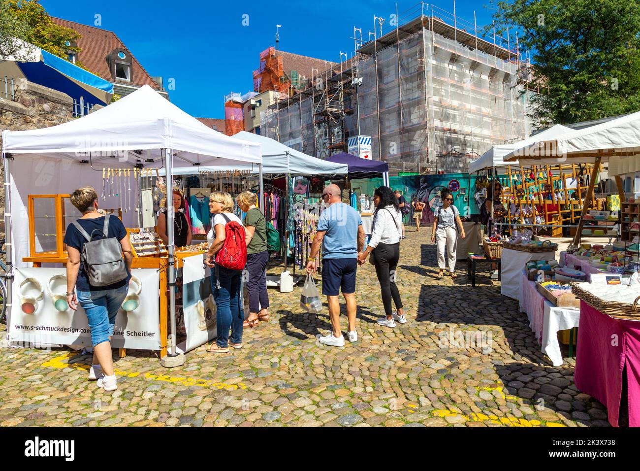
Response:
[[[83,227],[74,221],[74,226],[86,239],[80,260],[83,263],[89,284],[92,286],[113,285],[113,283],[118,283],[129,276],[127,265],[122,258],[120,241],[116,237],[108,237],[109,219],[111,219],[111,215],[104,217],[102,238],[98,240],[93,240],[93,233],[99,229],[95,229],[91,235],[88,235]]]

